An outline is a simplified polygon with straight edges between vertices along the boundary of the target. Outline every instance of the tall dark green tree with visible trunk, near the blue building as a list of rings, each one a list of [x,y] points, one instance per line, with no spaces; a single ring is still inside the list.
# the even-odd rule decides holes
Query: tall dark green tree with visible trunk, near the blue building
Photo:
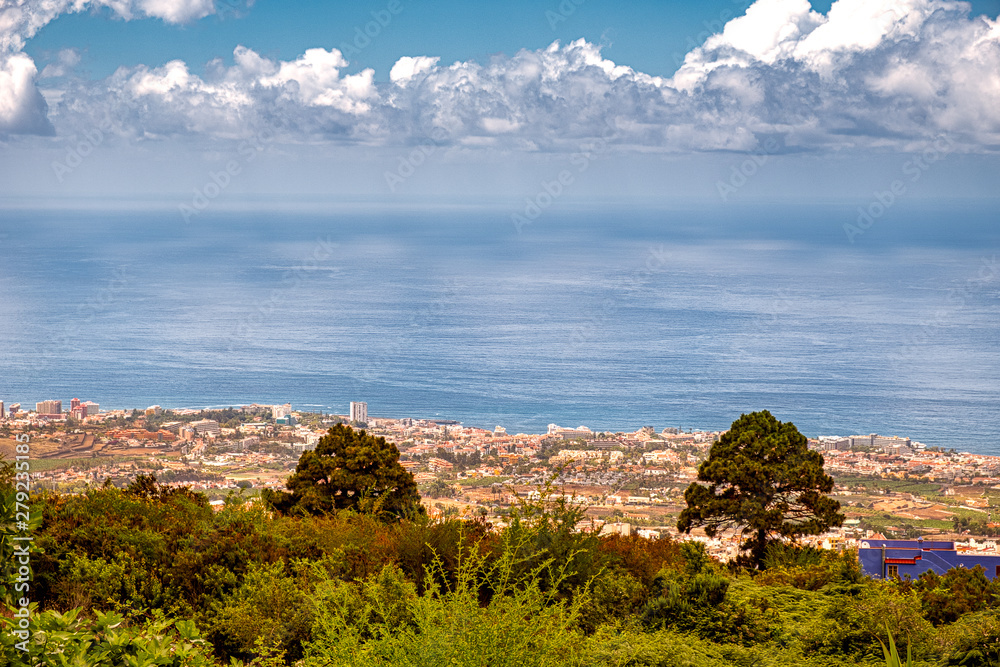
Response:
[[[712,445],[698,482],[684,492],[687,508],[677,528],[688,533],[701,526],[709,537],[737,529],[743,562],[759,567],[772,540],[816,535],[844,522],[840,503],[825,495],[832,490],[822,455],[809,450],[795,425],[754,412]]]

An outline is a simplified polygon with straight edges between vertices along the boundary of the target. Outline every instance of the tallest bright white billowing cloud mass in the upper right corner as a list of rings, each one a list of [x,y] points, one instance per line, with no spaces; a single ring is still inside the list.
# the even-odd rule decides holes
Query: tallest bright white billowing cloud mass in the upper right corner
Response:
[[[805,149],[941,133],[968,150],[1000,144],[996,21],[960,2],[837,0],[823,16],[805,0],[758,0],[669,84],[699,114]]]

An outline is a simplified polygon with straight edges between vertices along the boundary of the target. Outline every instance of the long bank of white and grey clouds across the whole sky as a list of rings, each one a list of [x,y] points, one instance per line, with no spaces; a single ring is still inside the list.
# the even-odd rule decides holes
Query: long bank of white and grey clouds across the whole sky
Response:
[[[1000,147],[1000,26],[944,0],[757,0],[687,54],[671,78],[616,64],[583,40],[487,63],[400,58],[389,81],[345,74],[335,48],[292,61],[240,46],[204,76],[173,61],[70,79],[46,108],[20,51],[60,13],[107,7],[169,22],[213,12],[208,0],[42,0],[0,11],[0,132],[59,134],[113,118],[131,140],[246,136],[469,148],[577,150],[602,137],[637,151],[912,150],[947,134],[968,152]]]

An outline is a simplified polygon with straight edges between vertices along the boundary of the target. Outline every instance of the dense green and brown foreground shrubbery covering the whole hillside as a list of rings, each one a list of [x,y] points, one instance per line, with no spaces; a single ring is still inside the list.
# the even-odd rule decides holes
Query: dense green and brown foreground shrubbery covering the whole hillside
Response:
[[[980,571],[879,583],[854,554],[780,547],[731,570],[696,543],[576,532],[544,500],[499,532],[213,512],[149,478],[32,504],[33,634],[17,649],[8,611],[0,664],[884,665],[887,631],[916,664],[1000,664]]]

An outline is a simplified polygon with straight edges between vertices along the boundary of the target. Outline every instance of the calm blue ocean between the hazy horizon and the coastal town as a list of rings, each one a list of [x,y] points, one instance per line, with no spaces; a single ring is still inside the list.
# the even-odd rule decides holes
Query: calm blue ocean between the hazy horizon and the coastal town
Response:
[[[508,432],[768,409],[1000,455],[994,206],[0,212],[0,400],[290,402]]]

